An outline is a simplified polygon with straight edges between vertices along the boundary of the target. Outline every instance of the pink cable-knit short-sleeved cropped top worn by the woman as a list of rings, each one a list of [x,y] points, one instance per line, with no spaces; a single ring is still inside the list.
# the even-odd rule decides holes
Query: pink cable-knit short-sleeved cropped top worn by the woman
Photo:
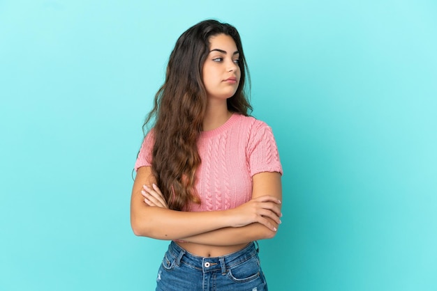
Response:
[[[152,135],[149,132],[142,143],[135,171],[151,165]],[[242,205],[251,200],[253,175],[283,173],[272,129],[253,117],[234,113],[221,127],[202,132],[198,151],[202,164],[195,187],[201,203],[188,205],[193,212]]]

